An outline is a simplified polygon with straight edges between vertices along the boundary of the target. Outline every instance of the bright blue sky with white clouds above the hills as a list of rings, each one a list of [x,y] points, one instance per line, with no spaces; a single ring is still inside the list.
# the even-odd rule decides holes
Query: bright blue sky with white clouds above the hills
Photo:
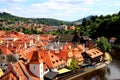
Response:
[[[0,0],[0,12],[26,18],[75,21],[120,11],[120,0]]]

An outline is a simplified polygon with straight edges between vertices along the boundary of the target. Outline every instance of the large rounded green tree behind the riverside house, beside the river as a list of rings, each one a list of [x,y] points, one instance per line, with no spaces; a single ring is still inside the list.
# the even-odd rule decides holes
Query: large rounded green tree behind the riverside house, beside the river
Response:
[[[97,47],[100,48],[103,52],[111,51],[111,44],[108,42],[108,39],[105,37],[100,37],[96,40]]]

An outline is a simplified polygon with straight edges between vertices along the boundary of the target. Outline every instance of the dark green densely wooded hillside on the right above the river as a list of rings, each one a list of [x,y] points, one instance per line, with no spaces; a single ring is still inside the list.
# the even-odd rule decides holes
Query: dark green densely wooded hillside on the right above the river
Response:
[[[80,27],[83,35],[93,38],[100,36],[120,38],[120,12],[106,16],[92,16],[89,20],[84,18]]]

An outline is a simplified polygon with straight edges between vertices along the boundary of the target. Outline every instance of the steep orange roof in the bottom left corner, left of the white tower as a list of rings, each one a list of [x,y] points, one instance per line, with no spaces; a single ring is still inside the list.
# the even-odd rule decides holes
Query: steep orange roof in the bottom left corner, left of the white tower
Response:
[[[14,80],[40,80],[28,70],[22,61],[18,61],[15,64],[9,64],[8,70],[0,80],[12,80],[13,78]]]

